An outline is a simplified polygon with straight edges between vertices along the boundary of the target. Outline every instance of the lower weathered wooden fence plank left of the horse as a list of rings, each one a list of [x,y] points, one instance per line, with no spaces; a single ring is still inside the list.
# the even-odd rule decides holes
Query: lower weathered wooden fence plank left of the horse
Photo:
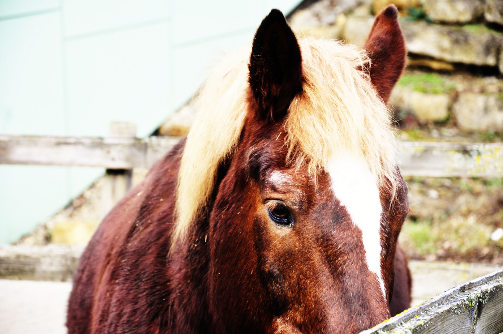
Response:
[[[0,278],[71,280],[83,246],[0,245]]]

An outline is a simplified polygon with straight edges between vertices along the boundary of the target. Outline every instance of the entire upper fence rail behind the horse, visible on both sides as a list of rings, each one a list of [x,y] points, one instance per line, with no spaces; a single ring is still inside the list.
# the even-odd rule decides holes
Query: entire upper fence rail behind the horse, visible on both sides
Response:
[[[149,168],[179,139],[0,135],[0,164]],[[503,177],[503,144],[398,142],[397,149],[406,176]]]

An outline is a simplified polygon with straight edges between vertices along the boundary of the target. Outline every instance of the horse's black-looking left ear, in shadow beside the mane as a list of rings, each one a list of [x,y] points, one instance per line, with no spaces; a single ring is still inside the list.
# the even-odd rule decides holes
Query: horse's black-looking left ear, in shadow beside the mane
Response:
[[[255,33],[248,64],[248,82],[260,112],[279,120],[302,89],[300,47],[285,17],[277,9]]]

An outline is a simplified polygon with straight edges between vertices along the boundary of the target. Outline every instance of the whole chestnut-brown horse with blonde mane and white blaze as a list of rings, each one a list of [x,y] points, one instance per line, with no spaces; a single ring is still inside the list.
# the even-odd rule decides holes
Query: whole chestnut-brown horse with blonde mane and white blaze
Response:
[[[408,306],[396,9],[364,50],[297,40],[273,10],[249,52],[217,65],[188,137],[98,228],[70,334],[357,333]]]

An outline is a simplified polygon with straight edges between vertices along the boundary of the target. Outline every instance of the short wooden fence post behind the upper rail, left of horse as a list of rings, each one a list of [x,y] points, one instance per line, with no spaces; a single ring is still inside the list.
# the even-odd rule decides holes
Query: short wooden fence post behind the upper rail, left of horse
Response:
[[[136,137],[136,125],[125,122],[111,122],[109,137]],[[131,189],[133,179],[132,169],[107,169],[103,177],[101,187],[101,217],[103,219],[108,212],[119,202]]]

